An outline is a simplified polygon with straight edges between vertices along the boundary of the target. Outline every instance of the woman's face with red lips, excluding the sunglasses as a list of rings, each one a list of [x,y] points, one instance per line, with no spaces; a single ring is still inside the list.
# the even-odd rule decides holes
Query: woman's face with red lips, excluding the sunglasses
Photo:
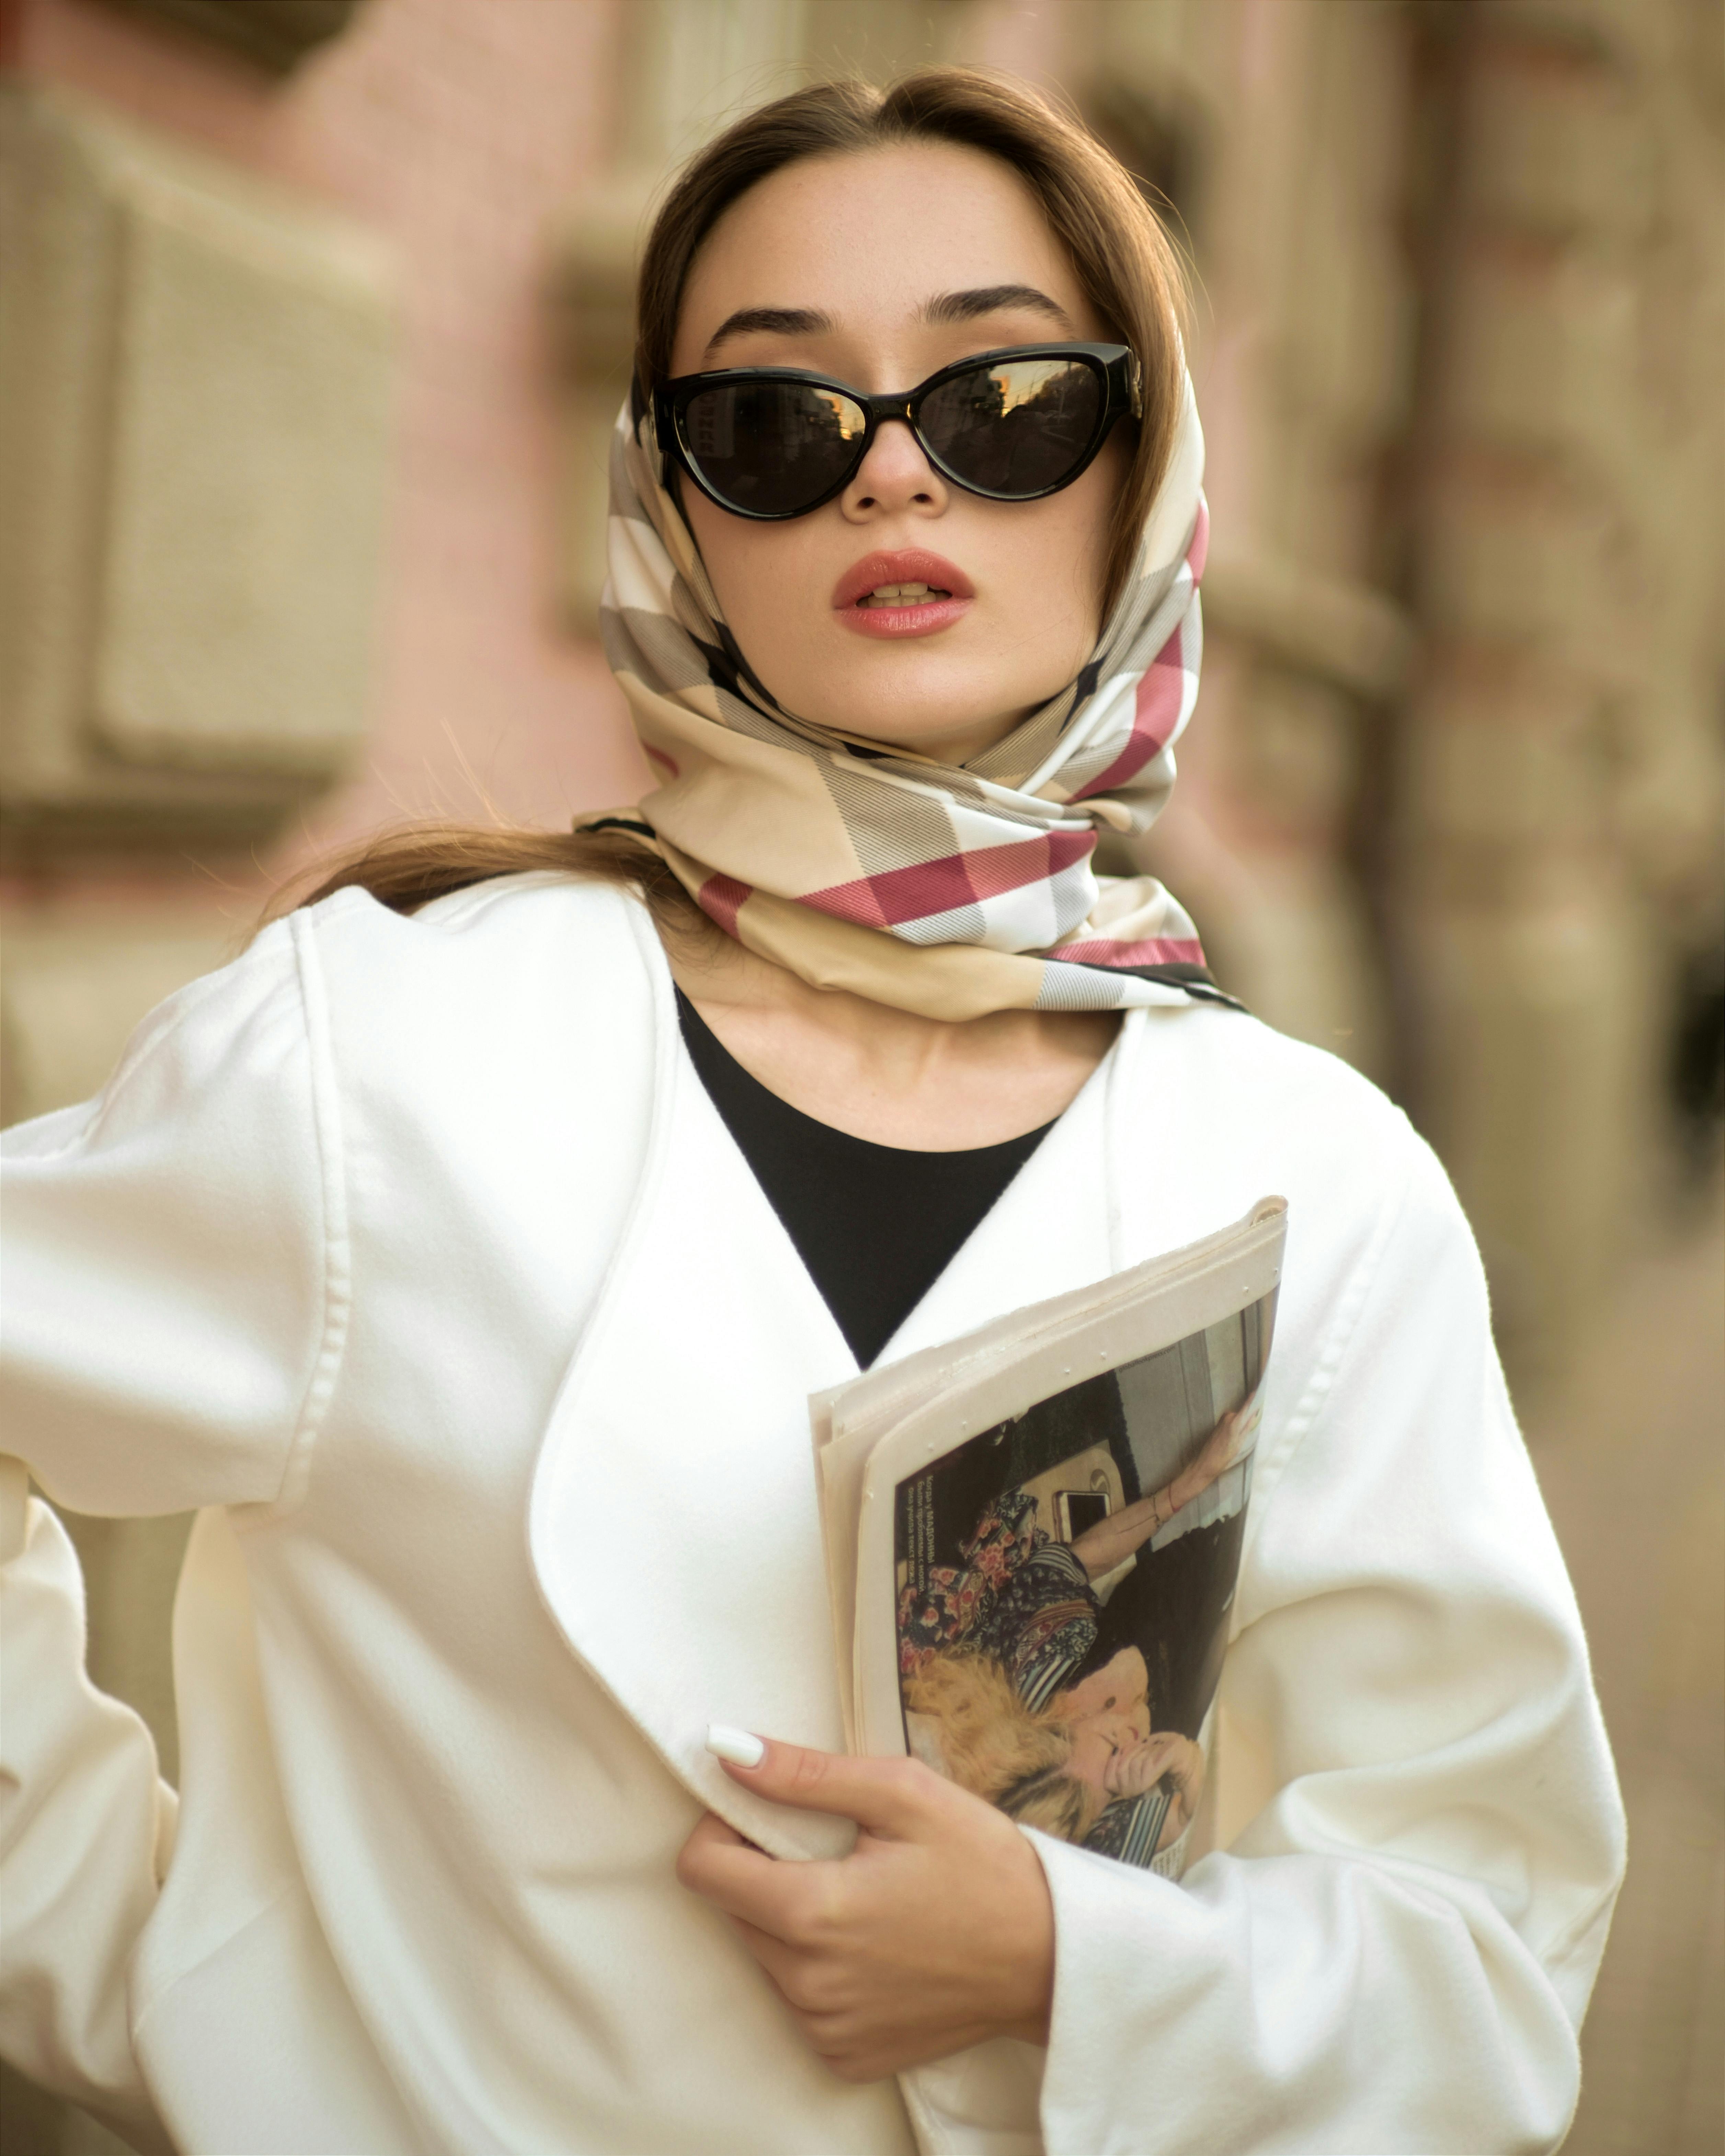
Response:
[[[880,395],[996,345],[1106,334],[1029,188],[981,151],[919,142],[794,164],[735,203],[694,261],[673,373],[802,367]],[[1089,658],[1126,457],[1117,425],[1061,494],[988,502],[888,423],[806,517],[755,524],[688,479],[681,500],[787,711],[962,763]],[[903,584],[960,604],[869,604]]]

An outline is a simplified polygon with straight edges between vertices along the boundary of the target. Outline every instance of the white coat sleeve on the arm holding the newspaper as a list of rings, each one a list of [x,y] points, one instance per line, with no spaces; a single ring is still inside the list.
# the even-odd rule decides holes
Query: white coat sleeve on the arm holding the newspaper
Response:
[[[1622,1807],[1473,1235],[1423,1145],[1343,1302],[1223,1677],[1227,1742],[1274,1794],[1182,1884],[1035,1837],[1050,2156],[1533,2156],[1568,2130]]]

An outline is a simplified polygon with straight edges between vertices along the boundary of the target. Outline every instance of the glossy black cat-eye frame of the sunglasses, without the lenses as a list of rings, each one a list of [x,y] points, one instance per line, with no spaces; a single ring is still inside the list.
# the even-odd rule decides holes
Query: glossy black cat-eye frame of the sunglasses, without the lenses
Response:
[[[1054,481],[1052,487],[1037,487],[1035,494],[996,494],[992,487],[977,487],[968,479],[962,479],[940,459],[919,420],[923,401],[932,397],[934,390],[944,388],[944,384],[955,375],[966,375],[981,367],[994,367],[1000,360],[1080,360],[1091,369],[1091,373],[1102,377],[1102,407],[1085,453],[1070,472]],[[862,433],[856,442],[856,455],[850,459],[839,479],[826,489],[826,494],[817,496],[813,502],[804,502],[802,509],[740,509],[737,502],[727,500],[701,474],[701,466],[694,461],[694,451],[688,446],[686,438],[688,407],[703,390],[744,382],[802,382],[809,388],[837,390],[841,397],[850,397],[850,401],[865,414]],[[1138,382],[1141,369],[1130,345],[998,345],[992,351],[972,351],[964,360],[953,360],[951,367],[942,367],[938,373],[929,375],[927,382],[919,382],[914,390],[899,390],[891,397],[869,397],[867,390],[852,388],[850,382],[839,382],[834,375],[817,375],[802,367],[722,367],[705,375],[677,375],[671,382],[660,382],[653,390],[653,427],[658,431],[660,451],[666,459],[688,472],[709,502],[716,502],[733,517],[748,517],[750,524],[789,524],[796,517],[813,515],[815,509],[824,509],[830,500],[845,492],[852,479],[856,479],[862,468],[862,459],[869,455],[869,444],[886,420],[903,420],[934,470],[940,472],[942,479],[951,481],[951,485],[962,487],[966,494],[979,494],[988,502],[1041,502],[1050,494],[1059,494],[1063,487],[1070,487],[1072,481],[1091,466],[1095,453],[1108,440],[1108,431],[1117,418],[1143,416]]]

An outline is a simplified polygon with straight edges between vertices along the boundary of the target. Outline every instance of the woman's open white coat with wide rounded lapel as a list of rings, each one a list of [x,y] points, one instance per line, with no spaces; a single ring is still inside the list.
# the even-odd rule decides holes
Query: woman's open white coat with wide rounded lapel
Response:
[[[201,1507],[183,1798],[6,1565],[0,2042],[211,2156],[1535,2152],[1622,1865],[1576,1606],[1455,1199],[1343,1065],[1130,1013],[888,1348],[1292,1205],[1220,1841],[1035,1837],[1048,2050],[850,2087],[673,1858],[781,1856],[709,1718],[841,1746],[806,1395],[850,1352],[627,897],[347,890],[6,1141],[4,1447]]]

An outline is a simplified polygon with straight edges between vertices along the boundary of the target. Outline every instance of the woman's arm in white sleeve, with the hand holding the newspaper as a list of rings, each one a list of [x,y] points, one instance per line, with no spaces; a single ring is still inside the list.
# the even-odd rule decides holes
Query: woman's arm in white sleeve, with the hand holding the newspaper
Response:
[[[1227,1854],[1173,1884],[1024,1830],[1033,1880],[1003,1815],[916,1761],[772,1744],[729,1766],[862,1824],[847,1858],[778,1865],[709,1815],[679,1867],[834,2072],[1046,2016],[1050,2156],[1561,2139],[1622,1874],[1611,1757],[1473,1238],[1423,1147],[1365,1263],[1242,1574],[1223,1699],[1276,1794]]]

